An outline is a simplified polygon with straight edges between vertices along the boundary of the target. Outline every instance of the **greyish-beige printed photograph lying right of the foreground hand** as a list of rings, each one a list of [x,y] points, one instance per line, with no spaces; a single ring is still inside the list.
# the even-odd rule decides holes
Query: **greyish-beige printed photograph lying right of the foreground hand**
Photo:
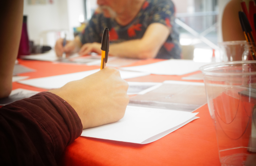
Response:
[[[193,112],[206,103],[204,83],[164,81],[151,92],[131,97],[129,105]]]

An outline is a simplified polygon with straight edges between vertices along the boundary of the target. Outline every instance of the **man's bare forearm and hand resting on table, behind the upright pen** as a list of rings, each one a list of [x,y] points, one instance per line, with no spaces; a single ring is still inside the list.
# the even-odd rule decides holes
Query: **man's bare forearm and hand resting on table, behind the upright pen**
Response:
[[[111,44],[109,54],[119,57],[129,58],[154,58],[159,49],[168,38],[170,30],[163,24],[150,24],[143,35],[142,39],[124,41],[117,44]],[[101,53],[100,43],[86,43],[80,50],[81,55],[86,55],[89,52]]]

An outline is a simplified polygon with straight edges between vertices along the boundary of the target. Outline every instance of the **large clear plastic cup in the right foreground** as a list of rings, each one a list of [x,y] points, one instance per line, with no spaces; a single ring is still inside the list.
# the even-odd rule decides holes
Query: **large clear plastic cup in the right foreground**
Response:
[[[243,166],[255,162],[256,61],[214,63],[200,69],[221,164]]]

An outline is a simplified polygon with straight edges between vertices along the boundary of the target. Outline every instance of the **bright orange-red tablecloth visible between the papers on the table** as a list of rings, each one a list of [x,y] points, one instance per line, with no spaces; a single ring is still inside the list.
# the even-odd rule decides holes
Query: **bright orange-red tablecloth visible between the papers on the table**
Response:
[[[141,60],[133,65],[149,64],[161,59]],[[99,68],[98,66],[53,64],[52,62],[21,60],[19,63],[33,68],[36,72],[20,74],[30,78],[67,74]],[[149,75],[126,79],[138,82],[162,82],[165,80],[181,80],[183,76]],[[202,82],[202,81],[195,81]],[[45,89],[13,83],[13,89],[24,88],[35,91]],[[214,124],[209,115],[207,105],[195,112],[200,117],[178,130],[149,144],[135,144],[103,140],[89,137],[78,137],[63,153],[60,165],[171,165],[171,166],[220,166]]]

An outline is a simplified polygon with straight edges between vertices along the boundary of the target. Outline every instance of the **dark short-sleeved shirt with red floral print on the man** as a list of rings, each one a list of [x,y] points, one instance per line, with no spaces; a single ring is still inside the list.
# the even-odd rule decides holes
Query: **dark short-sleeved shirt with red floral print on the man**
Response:
[[[80,34],[80,41],[100,43],[105,28],[109,29],[110,44],[141,39],[150,24],[161,23],[170,28],[171,33],[156,58],[180,59],[179,33],[174,20],[175,7],[171,0],[145,0],[137,16],[126,26],[119,25],[113,18],[105,18],[103,13],[94,13]]]

